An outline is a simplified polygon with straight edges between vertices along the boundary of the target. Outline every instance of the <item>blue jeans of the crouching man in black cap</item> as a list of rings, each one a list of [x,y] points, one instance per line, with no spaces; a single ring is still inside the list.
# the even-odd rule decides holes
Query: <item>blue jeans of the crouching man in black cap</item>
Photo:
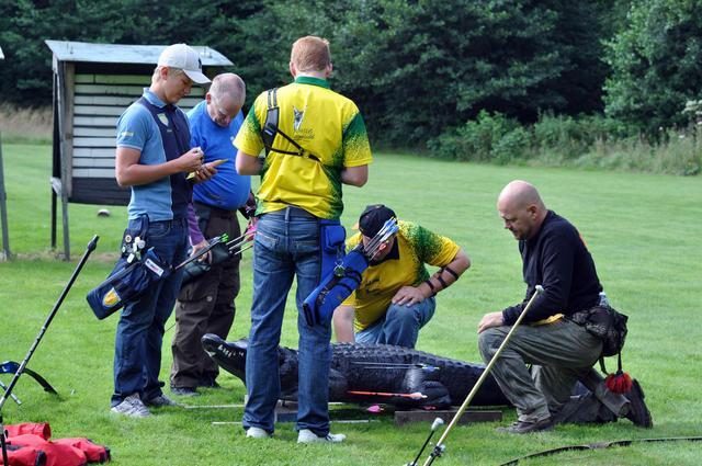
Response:
[[[390,304],[385,316],[355,334],[355,342],[415,348],[419,329],[431,320],[435,308],[433,296],[412,306]]]

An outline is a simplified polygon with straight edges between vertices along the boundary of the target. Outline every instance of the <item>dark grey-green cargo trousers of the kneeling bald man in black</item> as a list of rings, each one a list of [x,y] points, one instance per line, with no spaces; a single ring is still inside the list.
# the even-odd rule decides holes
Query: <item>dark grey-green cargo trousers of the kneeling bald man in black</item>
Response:
[[[486,363],[510,329],[495,327],[479,334]],[[629,401],[609,391],[592,370],[601,351],[599,338],[567,319],[543,326],[522,325],[495,362],[492,376],[517,407],[520,421],[535,422],[553,416],[556,422],[610,422],[625,412]],[[587,389],[573,395],[579,380]]]

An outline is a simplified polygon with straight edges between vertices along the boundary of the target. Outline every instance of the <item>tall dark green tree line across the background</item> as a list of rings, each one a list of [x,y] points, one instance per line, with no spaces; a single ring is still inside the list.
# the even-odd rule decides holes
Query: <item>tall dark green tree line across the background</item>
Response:
[[[15,0],[0,4],[0,101],[50,104],[52,38],[208,45],[250,104],[290,81],[292,42],[315,34],[375,143],[438,146],[486,115],[605,115],[656,137],[700,98],[699,11],[702,0]]]

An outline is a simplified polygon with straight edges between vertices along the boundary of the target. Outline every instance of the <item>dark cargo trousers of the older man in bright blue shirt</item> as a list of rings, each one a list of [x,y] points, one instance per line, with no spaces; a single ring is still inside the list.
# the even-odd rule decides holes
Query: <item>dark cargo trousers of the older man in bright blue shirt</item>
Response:
[[[231,240],[241,235],[236,212],[199,203],[195,212],[205,238],[226,232]],[[240,255],[236,254],[182,286],[171,342],[172,387],[212,386],[219,374],[217,364],[205,353],[200,340],[205,333],[227,338],[236,312],[234,300],[239,294],[239,262]]]

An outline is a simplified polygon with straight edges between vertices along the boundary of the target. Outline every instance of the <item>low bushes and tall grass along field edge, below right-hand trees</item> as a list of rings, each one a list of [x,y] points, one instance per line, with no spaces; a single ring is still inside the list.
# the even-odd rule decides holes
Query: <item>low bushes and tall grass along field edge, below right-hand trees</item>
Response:
[[[480,112],[474,121],[429,141],[438,157],[505,164],[530,160],[547,166],[597,167],[695,175],[702,172],[702,103],[688,103],[687,128],[666,128],[650,138],[602,115],[541,114],[522,126],[502,114]]]

